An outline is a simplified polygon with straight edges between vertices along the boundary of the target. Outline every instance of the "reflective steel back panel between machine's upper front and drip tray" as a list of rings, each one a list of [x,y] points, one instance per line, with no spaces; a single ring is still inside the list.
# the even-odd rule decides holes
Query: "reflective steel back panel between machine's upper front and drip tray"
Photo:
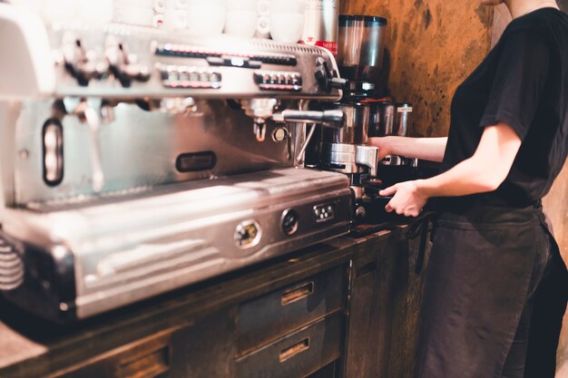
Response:
[[[96,100],[93,100],[96,102]],[[24,102],[16,124],[14,155],[15,205],[97,195],[93,190],[91,134],[76,116],[64,116],[64,180],[44,183],[42,127],[52,116],[53,102]],[[190,179],[211,179],[236,173],[294,165],[294,132],[281,142],[254,138],[252,119],[226,102],[198,102],[191,114],[171,115],[142,111],[137,105],[119,104],[115,121],[99,131],[105,186],[103,193],[152,189]],[[273,125],[269,125],[269,132]],[[5,128],[9,132],[9,128]],[[212,151],[213,170],[181,173],[175,162],[182,153]],[[5,183],[12,182],[6,178]]]

